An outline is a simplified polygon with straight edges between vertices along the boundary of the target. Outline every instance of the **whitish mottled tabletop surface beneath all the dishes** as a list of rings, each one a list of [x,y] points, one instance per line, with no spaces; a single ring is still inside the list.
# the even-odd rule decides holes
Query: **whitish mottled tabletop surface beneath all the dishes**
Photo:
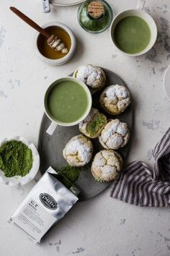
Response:
[[[115,14],[134,8],[136,0],[109,0]],[[61,67],[49,67],[35,56],[35,31],[9,11],[15,6],[40,25],[58,21],[75,33],[78,47],[73,59]],[[80,64],[111,69],[133,93],[135,129],[128,161],[151,164],[151,149],[169,127],[170,103],[163,90],[164,70],[170,60],[170,1],[146,0],[146,11],[158,25],[156,46],[140,57],[123,56],[112,46],[109,31],[86,33],[76,20],[78,7],[52,7],[43,14],[40,1],[6,0],[0,4],[0,134],[21,135],[37,145],[43,114],[43,95],[51,82],[66,76]],[[1,256],[169,256],[169,208],[138,208],[109,197],[109,189],[87,202],[77,203],[35,246],[6,221],[34,186],[0,186]]]

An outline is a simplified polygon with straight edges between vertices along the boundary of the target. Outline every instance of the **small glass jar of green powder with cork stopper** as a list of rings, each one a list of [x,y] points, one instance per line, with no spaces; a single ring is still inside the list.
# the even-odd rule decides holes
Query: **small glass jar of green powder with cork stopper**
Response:
[[[79,24],[89,33],[107,30],[112,18],[112,9],[104,0],[87,0],[78,10]]]

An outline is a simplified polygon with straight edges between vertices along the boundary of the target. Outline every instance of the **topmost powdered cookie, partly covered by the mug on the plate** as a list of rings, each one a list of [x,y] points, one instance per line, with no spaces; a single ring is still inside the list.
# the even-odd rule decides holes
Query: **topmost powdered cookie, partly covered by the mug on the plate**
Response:
[[[102,89],[106,80],[104,71],[90,64],[76,69],[73,73],[73,77],[84,82],[89,87],[91,93],[96,93],[98,90]]]

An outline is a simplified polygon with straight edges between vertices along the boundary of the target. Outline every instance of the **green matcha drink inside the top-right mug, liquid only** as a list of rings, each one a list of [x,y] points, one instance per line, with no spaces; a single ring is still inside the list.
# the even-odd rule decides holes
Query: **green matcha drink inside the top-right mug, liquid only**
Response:
[[[114,30],[115,43],[127,54],[138,54],[151,40],[151,31],[145,20],[128,16],[120,20]]]

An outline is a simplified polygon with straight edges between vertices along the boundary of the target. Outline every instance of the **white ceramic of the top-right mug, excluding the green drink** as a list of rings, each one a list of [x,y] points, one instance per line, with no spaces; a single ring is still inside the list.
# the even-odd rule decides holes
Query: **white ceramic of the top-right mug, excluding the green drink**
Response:
[[[112,43],[115,45],[115,47],[117,48],[117,50],[119,50],[120,52],[122,52],[122,54],[128,55],[128,56],[140,56],[142,54],[146,54],[146,52],[148,52],[149,50],[151,50],[151,48],[153,47],[154,43],[156,42],[156,38],[157,38],[157,27],[156,27],[156,22],[153,20],[153,18],[151,17],[150,14],[148,14],[147,12],[143,11],[145,5],[145,1],[144,0],[138,0],[138,5],[136,9],[128,9],[125,10],[123,12],[120,12],[119,14],[117,14],[117,16],[112,20],[112,24],[110,26],[110,38],[112,40]],[[114,33],[113,31],[115,30],[115,27],[117,25],[117,23],[122,20],[125,17],[128,16],[138,16],[140,18],[142,18],[143,20],[146,21],[146,23],[148,24],[150,30],[151,30],[151,40],[148,43],[148,46],[143,49],[143,51],[140,51],[136,54],[127,54],[124,51],[121,51],[120,48],[117,47],[116,43],[115,43],[115,38],[114,38]]]

